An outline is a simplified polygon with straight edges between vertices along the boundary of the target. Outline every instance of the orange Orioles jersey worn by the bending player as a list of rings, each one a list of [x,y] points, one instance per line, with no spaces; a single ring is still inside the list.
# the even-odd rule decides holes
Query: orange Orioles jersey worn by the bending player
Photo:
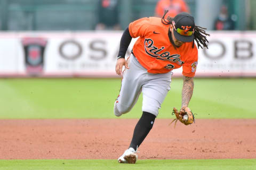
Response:
[[[186,25],[185,25],[186,26]],[[142,18],[129,24],[132,38],[139,37],[132,51],[140,64],[149,73],[167,73],[182,66],[182,74],[194,77],[198,52],[193,42],[174,48],[168,36],[170,25],[161,18]]]

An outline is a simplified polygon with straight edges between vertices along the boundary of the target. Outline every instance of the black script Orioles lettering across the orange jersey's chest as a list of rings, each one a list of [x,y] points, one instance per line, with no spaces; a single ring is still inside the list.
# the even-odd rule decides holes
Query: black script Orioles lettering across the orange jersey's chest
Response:
[[[164,47],[161,47],[158,49],[156,46],[154,46],[154,41],[150,38],[146,39],[144,41],[145,46],[145,52],[151,56],[155,57],[157,60],[168,60],[171,62],[179,63],[180,65],[184,62],[180,61],[180,55],[179,54],[173,54],[171,55],[170,52],[163,52],[161,54],[158,54],[158,52],[161,52],[164,50]]]

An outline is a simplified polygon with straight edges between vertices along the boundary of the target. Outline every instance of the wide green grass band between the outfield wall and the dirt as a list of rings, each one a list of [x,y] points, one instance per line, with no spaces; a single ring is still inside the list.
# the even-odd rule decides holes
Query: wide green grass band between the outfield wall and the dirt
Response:
[[[158,118],[181,106],[182,79],[173,79]],[[0,79],[0,118],[115,118],[120,79]],[[196,118],[256,118],[256,79],[195,79],[189,107]],[[142,95],[130,113],[141,116]]]

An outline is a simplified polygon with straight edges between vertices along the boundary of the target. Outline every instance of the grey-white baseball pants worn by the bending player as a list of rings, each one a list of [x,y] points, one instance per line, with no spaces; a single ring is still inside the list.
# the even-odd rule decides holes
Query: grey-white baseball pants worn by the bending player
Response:
[[[116,108],[119,113],[131,111],[142,91],[142,112],[158,115],[158,109],[170,90],[172,72],[151,74],[137,61],[133,54],[127,59],[130,69],[125,69]]]

